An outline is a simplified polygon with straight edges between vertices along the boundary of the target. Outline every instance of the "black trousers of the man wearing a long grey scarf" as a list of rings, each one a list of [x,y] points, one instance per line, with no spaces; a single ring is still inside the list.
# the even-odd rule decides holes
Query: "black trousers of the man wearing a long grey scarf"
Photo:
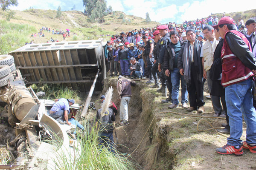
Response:
[[[196,72],[195,66],[192,64],[190,83],[187,83],[190,107],[198,108],[204,105],[203,86],[204,86],[203,82],[197,79],[197,72]]]

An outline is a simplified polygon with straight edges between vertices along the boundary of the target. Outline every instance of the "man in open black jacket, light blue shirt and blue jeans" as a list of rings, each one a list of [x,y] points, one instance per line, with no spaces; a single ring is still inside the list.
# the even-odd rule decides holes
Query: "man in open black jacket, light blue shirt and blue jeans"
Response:
[[[179,88],[181,82],[181,107],[188,108],[188,91],[184,76],[180,75],[178,69],[178,54],[183,42],[179,40],[177,31],[171,31],[171,43],[165,49],[163,57],[163,70],[166,76],[172,81],[172,105],[169,108],[177,108],[179,104]]]

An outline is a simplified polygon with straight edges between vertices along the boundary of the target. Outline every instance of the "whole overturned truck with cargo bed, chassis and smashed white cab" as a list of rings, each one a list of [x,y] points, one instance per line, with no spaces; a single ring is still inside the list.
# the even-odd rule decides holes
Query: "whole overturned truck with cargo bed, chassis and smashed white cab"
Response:
[[[0,77],[0,99],[7,103],[1,116],[7,117],[15,128],[16,138],[12,142],[17,159],[15,164],[0,165],[0,169],[58,169],[58,153],[69,154],[70,159],[80,155],[81,147],[72,136],[76,127],[48,116],[54,102],[39,100],[24,80],[27,84],[63,83],[84,92],[89,92],[93,85],[95,92],[100,93],[106,77],[102,40],[30,44],[9,54],[6,56],[12,61],[3,63],[9,67],[0,67],[1,73],[8,70]],[[14,63],[17,69],[11,71]],[[81,106],[75,104],[69,115],[79,112]]]

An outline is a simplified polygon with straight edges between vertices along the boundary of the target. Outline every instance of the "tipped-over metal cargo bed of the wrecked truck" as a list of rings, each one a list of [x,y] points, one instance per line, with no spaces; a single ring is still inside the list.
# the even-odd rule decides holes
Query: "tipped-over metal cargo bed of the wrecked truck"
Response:
[[[106,77],[102,39],[30,44],[9,53],[26,80],[31,83],[64,83],[79,91],[90,91],[97,70],[101,70],[96,91]]]

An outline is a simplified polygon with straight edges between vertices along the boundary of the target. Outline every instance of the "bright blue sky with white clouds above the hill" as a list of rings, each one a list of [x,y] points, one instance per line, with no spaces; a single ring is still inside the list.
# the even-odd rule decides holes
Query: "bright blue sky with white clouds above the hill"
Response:
[[[193,20],[207,17],[211,13],[224,13],[234,11],[246,11],[254,9],[255,0],[246,0],[246,3],[234,0],[107,0],[107,6],[112,6],[113,11],[123,11],[145,18],[149,13],[152,21],[160,23]],[[75,5],[76,10],[84,11],[83,0],[18,0],[19,5],[11,7],[15,10],[24,10],[33,7],[36,9],[54,9],[61,6],[62,11],[71,10]]]

